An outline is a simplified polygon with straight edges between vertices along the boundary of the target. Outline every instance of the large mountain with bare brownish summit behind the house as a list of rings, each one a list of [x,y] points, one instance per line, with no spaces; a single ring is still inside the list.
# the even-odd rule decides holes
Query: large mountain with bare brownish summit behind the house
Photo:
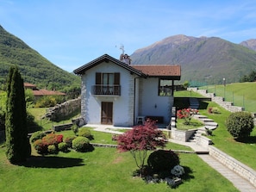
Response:
[[[239,82],[256,68],[256,52],[218,37],[167,37],[130,55],[132,64],[181,65],[181,82]]]

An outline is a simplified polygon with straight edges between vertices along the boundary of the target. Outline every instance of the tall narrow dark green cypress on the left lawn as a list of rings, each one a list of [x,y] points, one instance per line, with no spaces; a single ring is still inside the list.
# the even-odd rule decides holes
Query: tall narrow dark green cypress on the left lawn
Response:
[[[6,157],[12,164],[25,161],[31,154],[28,139],[23,79],[17,66],[11,66],[7,79]]]

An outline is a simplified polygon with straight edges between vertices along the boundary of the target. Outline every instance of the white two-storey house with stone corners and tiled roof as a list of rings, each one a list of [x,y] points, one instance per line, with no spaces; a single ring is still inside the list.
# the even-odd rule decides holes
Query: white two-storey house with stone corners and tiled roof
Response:
[[[74,70],[82,80],[81,115],[90,124],[132,127],[149,117],[168,125],[180,72],[179,65],[128,65],[104,54]]]

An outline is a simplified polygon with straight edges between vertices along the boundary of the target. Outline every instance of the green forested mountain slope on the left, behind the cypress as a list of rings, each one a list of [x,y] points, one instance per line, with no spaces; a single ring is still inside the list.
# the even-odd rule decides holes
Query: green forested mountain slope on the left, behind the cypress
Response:
[[[39,88],[62,90],[80,86],[80,78],[60,69],[0,25],[0,85],[5,83],[10,65],[17,65],[24,82]]]

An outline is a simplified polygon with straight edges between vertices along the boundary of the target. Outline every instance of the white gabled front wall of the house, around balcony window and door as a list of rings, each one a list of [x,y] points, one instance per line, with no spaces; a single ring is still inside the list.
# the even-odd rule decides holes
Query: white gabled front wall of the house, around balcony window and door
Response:
[[[95,85],[96,72],[120,72],[121,96],[92,96],[91,87]],[[103,62],[82,76],[81,115],[86,123],[101,124],[101,102],[113,102],[113,125],[134,125],[134,78],[122,67]]]

